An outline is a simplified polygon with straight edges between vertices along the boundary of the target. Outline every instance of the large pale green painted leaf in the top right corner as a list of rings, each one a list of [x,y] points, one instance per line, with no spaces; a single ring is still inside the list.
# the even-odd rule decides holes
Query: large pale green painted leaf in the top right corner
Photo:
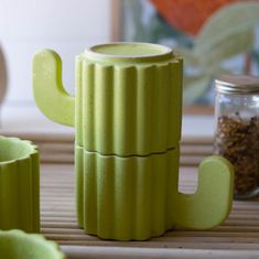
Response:
[[[195,55],[201,62],[220,63],[251,48],[255,24],[259,20],[259,3],[229,4],[212,15],[196,37]]]

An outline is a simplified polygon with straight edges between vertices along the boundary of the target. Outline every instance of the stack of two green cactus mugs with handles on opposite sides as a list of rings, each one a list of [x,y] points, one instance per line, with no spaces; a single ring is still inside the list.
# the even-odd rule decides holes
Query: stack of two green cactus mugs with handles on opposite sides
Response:
[[[205,229],[229,213],[233,169],[223,158],[199,168],[197,192],[177,192],[182,60],[150,43],[95,45],[76,57],[76,96],[62,62],[33,60],[34,98],[50,119],[76,129],[78,225],[89,234],[143,240],[181,225]]]

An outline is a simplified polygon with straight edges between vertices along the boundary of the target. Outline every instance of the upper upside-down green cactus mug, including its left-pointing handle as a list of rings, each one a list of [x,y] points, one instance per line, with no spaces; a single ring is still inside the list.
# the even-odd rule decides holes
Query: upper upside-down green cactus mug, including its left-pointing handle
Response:
[[[63,89],[61,69],[53,51],[34,56],[34,97],[52,120],[75,127],[77,145],[120,157],[177,145],[182,60],[171,48],[144,43],[89,47],[76,57],[75,98]]]

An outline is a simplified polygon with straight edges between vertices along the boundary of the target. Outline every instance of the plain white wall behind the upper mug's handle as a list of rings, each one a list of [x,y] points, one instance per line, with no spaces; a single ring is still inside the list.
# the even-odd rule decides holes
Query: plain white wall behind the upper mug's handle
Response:
[[[110,40],[110,0],[0,0],[0,44],[9,73],[8,104],[33,105],[32,56],[54,48],[74,93],[74,56]]]

